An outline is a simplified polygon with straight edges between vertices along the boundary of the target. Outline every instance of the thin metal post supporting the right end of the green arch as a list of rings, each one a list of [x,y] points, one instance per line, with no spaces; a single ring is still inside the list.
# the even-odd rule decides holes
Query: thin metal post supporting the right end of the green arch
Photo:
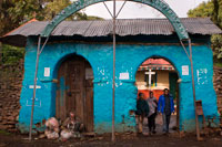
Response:
[[[200,137],[199,122],[198,122],[198,114],[196,114],[196,104],[195,104],[195,83],[194,83],[194,73],[193,73],[192,46],[191,46],[190,39],[189,39],[189,50],[190,50],[191,74],[192,74],[193,102],[194,102],[194,111],[195,111],[195,130],[196,130],[196,138],[198,138],[198,140],[200,140],[201,137]]]

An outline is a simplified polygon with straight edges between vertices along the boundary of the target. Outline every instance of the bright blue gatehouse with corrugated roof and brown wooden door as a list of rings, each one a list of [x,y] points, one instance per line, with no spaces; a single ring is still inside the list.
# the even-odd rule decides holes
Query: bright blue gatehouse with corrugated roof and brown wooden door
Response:
[[[205,116],[218,116],[213,88],[213,53],[210,38],[222,31],[205,19],[181,19],[193,49],[196,99]],[[29,130],[38,36],[48,22],[31,21],[1,38],[26,46],[19,128]],[[109,133],[112,124],[112,21],[63,21],[52,32],[40,55],[33,124],[49,117],[64,119],[70,111],[89,132]],[[117,20],[115,130],[134,130],[140,65],[150,57],[169,61],[178,72],[180,130],[195,128],[190,61],[167,19]],[[201,124],[201,123],[200,123]]]

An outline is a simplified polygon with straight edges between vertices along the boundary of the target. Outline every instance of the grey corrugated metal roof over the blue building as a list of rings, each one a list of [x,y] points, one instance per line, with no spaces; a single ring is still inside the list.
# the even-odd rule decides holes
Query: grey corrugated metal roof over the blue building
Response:
[[[181,19],[190,34],[218,34],[222,31],[209,18],[184,18]],[[17,36],[18,40],[30,35],[39,35],[47,21],[32,21],[1,38],[1,41]],[[63,21],[52,32],[53,36],[107,36],[112,33],[112,20],[93,21]],[[117,34],[125,35],[171,35],[175,33],[168,19],[121,19],[117,20]]]

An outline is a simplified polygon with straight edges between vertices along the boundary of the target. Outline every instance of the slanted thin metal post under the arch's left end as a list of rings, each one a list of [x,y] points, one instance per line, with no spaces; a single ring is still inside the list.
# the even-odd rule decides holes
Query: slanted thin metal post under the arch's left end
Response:
[[[38,49],[37,49],[34,87],[33,87],[33,97],[32,97],[32,107],[31,107],[31,117],[30,117],[29,140],[31,140],[31,135],[32,135],[34,99],[36,99],[36,93],[37,93],[37,74],[38,74],[39,56],[40,56],[40,44],[41,44],[41,36],[39,36]]]

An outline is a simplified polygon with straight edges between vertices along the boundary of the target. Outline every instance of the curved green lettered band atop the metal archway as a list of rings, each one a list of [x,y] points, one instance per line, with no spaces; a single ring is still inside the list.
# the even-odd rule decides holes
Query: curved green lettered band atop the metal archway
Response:
[[[71,14],[78,12],[79,10],[87,8],[91,4],[105,2],[105,1],[111,1],[111,0],[78,0],[73,2],[72,4],[63,9],[59,14],[57,14],[53,18],[53,20],[42,31],[41,36],[43,38],[50,36],[52,31],[56,29],[56,27],[60,22],[62,22],[64,19],[67,19]],[[124,0],[118,0],[118,1],[124,1]],[[159,10],[162,14],[164,14],[168,18],[170,23],[173,25],[180,40],[189,39],[189,34],[184,25],[181,23],[179,17],[163,0],[127,0],[127,1],[143,3]]]

